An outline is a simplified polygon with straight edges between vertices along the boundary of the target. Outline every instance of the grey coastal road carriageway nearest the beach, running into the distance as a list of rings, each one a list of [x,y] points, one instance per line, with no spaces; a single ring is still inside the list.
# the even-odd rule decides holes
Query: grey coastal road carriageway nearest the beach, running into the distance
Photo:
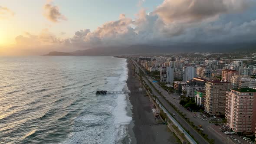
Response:
[[[134,60],[132,61],[134,62],[137,69],[140,68],[139,65]],[[177,114],[177,112],[174,110],[174,108],[171,107],[168,101],[166,101],[161,95],[158,94],[158,92],[153,88],[153,86],[150,84],[150,82],[145,76],[143,76],[142,79],[151,88],[153,95],[157,96],[158,100],[161,102],[163,107],[167,111],[170,111],[171,113],[175,114],[176,120],[182,125],[183,128],[187,129],[190,132],[190,135],[194,136],[194,138],[198,141],[199,144],[209,144],[196,130],[194,130],[194,128],[190,126],[190,124],[187,123],[187,121],[185,121],[180,115]]]

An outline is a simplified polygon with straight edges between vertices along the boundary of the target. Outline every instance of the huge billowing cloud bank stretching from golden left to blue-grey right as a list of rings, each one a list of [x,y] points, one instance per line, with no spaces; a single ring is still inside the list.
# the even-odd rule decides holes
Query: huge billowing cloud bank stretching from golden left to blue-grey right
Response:
[[[118,20],[108,21],[95,30],[81,29],[67,39],[59,39],[44,29],[39,35],[17,36],[16,42],[76,49],[255,42],[255,8],[249,0],[164,0],[151,13],[141,8],[135,19],[120,14]]]

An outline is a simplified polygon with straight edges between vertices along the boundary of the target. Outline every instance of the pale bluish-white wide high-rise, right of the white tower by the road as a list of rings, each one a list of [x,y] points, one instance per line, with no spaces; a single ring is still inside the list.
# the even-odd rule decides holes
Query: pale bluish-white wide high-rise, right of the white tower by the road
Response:
[[[181,79],[186,82],[196,77],[197,69],[194,66],[184,66],[181,69]]]

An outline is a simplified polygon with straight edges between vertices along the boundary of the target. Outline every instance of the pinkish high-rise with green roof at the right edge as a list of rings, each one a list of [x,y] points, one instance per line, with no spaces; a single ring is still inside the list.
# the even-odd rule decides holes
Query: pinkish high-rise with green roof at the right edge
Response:
[[[236,134],[250,134],[256,127],[256,89],[234,88],[226,94],[227,126]]]

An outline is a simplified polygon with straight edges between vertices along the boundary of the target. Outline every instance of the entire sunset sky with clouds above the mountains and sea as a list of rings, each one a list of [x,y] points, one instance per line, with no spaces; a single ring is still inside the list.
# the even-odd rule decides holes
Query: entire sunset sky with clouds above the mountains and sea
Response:
[[[255,41],[256,0],[0,1],[0,55]]]

